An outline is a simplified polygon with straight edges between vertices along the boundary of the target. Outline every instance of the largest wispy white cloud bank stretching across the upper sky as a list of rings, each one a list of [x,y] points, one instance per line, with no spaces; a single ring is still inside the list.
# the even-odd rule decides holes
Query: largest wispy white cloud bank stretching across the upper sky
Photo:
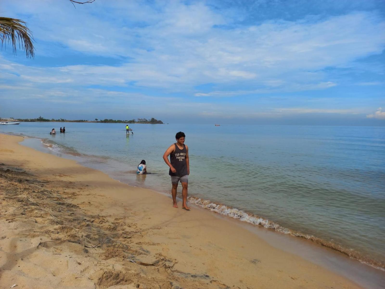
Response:
[[[149,6],[100,1],[77,5],[75,10],[62,2],[47,1],[49,5],[43,7],[36,7],[33,1],[23,5],[8,2],[11,10],[31,15],[28,23],[37,44],[44,40],[85,54],[130,58],[119,67],[64,68],[81,77],[84,85],[136,82],[137,86],[172,87],[174,91],[205,83],[224,89],[234,84],[245,90],[283,87],[298,91],[296,85],[314,89],[317,82],[327,86],[328,79],[321,73],[316,73],[316,80],[295,76],[350,66],[361,57],[380,54],[385,46],[385,38],[378,33],[385,30],[385,23],[368,12],[231,26],[233,19],[203,3],[172,1]],[[55,52],[43,47],[37,51],[37,55],[47,53]],[[48,69],[45,74],[54,77],[60,70]]]

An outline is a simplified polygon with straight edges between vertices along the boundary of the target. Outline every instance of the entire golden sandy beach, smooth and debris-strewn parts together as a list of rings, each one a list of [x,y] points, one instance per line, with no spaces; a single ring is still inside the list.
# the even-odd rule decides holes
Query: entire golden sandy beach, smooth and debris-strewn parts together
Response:
[[[0,288],[360,288],[22,139],[0,134]]]

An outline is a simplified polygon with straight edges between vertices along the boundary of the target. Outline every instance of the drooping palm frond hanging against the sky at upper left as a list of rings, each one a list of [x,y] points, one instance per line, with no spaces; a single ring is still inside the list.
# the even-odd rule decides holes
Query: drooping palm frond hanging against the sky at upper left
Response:
[[[27,58],[35,58],[32,32],[23,20],[0,17],[0,39],[2,47],[7,43],[12,45],[13,54],[16,54],[18,42],[19,49],[25,50]]]

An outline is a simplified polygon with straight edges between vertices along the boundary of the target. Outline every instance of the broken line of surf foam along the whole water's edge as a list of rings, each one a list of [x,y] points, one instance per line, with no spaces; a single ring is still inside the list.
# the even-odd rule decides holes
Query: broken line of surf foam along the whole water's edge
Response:
[[[39,139],[40,144],[42,146],[44,146],[44,148],[47,148],[47,151],[49,151],[50,153],[54,153],[55,155],[60,156],[60,157],[69,158],[70,160],[79,161],[79,160],[77,160],[77,157],[82,158],[82,157],[88,156],[88,155],[82,155],[79,152],[61,151],[61,149],[63,149],[64,147],[62,147],[58,144],[50,144],[49,143],[51,141],[50,139],[41,139],[41,138],[35,138],[35,137],[29,137],[29,136],[27,136],[27,138]],[[44,140],[48,141],[48,143],[45,143]],[[25,144],[25,145],[28,146],[27,144]],[[58,150],[54,150],[53,146],[57,146]],[[28,147],[38,149],[36,146],[33,146],[33,145],[28,146]],[[67,148],[65,148],[65,149],[67,149]],[[41,151],[47,152],[46,150],[41,150]],[[99,158],[102,158],[102,157],[99,156]],[[83,163],[82,165],[87,166],[87,167],[92,168],[92,169],[101,170],[100,168],[95,168],[95,167],[89,166],[88,164]],[[119,180],[119,178],[115,178],[115,176],[113,174],[110,174],[109,172],[104,171],[104,173],[107,173],[107,175],[109,175],[114,180],[118,180],[118,181],[121,181],[122,183],[126,183],[125,181]],[[169,195],[169,193],[167,193],[167,192],[159,191],[159,190],[156,190],[152,187],[142,187],[142,186],[138,186],[138,187],[152,189],[158,193]],[[179,196],[179,193],[180,192],[178,192],[178,196]],[[331,249],[331,250],[335,251],[336,254],[342,254],[342,255],[347,256],[353,260],[357,260],[361,264],[370,266],[376,270],[385,271],[385,264],[382,261],[370,259],[368,257],[364,257],[362,254],[360,254],[360,252],[357,252],[356,250],[352,250],[352,249],[349,249],[347,247],[343,247],[343,246],[335,244],[333,242],[328,242],[327,240],[318,238],[316,236],[305,234],[305,233],[302,233],[302,232],[299,232],[299,231],[296,231],[296,230],[293,230],[293,229],[290,229],[287,227],[283,227],[279,223],[276,223],[272,220],[268,220],[267,218],[261,217],[259,215],[255,215],[253,213],[243,211],[243,210],[238,210],[237,208],[234,208],[234,207],[231,207],[228,205],[224,205],[224,204],[218,203],[218,202],[213,202],[211,200],[202,199],[199,197],[189,196],[188,201],[189,201],[189,203],[194,204],[195,206],[198,206],[199,208],[203,208],[203,209],[209,210],[211,212],[214,212],[216,214],[220,214],[220,215],[223,215],[226,217],[234,218],[240,222],[246,222],[246,223],[249,223],[249,224],[254,225],[254,226],[263,227],[264,229],[270,229],[270,230],[273,230],[275,232],[278,232],[278,234],[291,235],[291,236],[294,236],[294,237],[297,237],[300,239],[310,241],[315,245],[320,245],[322,247]]]

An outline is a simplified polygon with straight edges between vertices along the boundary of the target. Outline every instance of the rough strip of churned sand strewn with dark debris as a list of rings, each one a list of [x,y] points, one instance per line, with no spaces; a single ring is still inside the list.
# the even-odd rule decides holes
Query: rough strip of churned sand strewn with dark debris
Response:
[[[1,163],[0,222],[28,223],[29,229],[20,235],[40,237],[42,241],[35,250],[44,248],[62,255],[57,250],[70,248],[73,254],[92,259],[98,266],[84,266],[87,269],[82,270],[81,277],[92,280],[95,288],[125,284],[161,289],[229,288],[207,274],[178,271],[173,268],[176,260],[143,248],[136,240],[141,238],[136,224],[127,224],[124,216],[110,221],[108,217],[87,214],[80,204],[73,203],[77,186],[42,180]],[[154,262],[142,262],[149,258]]]

